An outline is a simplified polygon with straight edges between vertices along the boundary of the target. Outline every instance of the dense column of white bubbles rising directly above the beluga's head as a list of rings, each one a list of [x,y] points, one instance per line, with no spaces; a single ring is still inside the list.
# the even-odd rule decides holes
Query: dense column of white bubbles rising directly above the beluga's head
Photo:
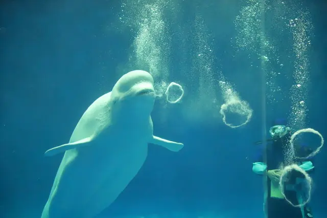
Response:
[[[170,40],[164,12],[171,2],[163,0],[122,1],[119,20],[135,33],[133,66],[148,69],[154,78],[169,76]]]

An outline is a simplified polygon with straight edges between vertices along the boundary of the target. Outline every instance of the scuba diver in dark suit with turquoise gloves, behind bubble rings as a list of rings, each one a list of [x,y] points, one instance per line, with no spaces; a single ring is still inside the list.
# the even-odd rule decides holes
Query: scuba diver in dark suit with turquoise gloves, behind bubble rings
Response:
[[[267,190],[264,196],[264,212],[267,218],[312,218],[312,212],[308,204],[302,207],[292,206],[282,194],[281,187],[279,186],[279,179],[282,176],[283,170],[280,169],[281,166],[292,164],[297,164],[300,168],[308,173],[312,173],[314,166],[312,159],[298,160],[292,158],[289,152],[289,140],[291,138],[291,129],[287,127],[287,122],[285,119],[274,120],[269,133],[271,139],[267,140],[266,146],[260,146],[259,156],[256,157],[256,162],[253,163],[252,171],[257,175],[267,176]],[[262,144],[261,142],[256,142],[255,144]],[[305,145],[295,145],[294,152],[297,157],[307,157],[311,154],[312,150]],[[264,161],[264,155],[266,155],[266,160]],[[295,173],[294,173],[295,172]],[[290,172],[291,179],[288,182],[296,183],[297,178],[304,179],[302,173],[297,170],[292,170]],[[293,184],[295,187],[299,187]],[[284,193],[287,199],[294,205],[299,205],[302,199],[299,196],[299,190],[292,189],[289,190],[284,186]]]

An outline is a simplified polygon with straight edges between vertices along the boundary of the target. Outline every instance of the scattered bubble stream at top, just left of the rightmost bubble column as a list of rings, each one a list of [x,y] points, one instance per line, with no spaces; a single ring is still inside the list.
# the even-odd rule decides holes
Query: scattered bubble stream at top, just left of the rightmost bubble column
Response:
[[[275,63],[278,63],[281,67],[283,64],[279,63],[276,47],[273,44],[274,41],[265,34],[263,29],[265,26],[262,24],[264,22],[262,20],[263,13],[266,14],[271,11],[271,6],[268,2],[263,3],[261,0],[246,1],[246,6],[241,9],[235,20],[238,32],[235,44],[238,51],[247,50],[251,55],[254,53],[264,63],[264,67],[261,70],[264,71],[267,78],[267,99],[270,103],[275,104],[279,100],[277,96],[282,95],[282,88],[276,82],[281,77],[281,69],[274,69],[274,66]],[[264,10],[262,4],[264,4]],[[253,67],[253,63],[251,67]],[[259,66],[256,67],[258,68]]]

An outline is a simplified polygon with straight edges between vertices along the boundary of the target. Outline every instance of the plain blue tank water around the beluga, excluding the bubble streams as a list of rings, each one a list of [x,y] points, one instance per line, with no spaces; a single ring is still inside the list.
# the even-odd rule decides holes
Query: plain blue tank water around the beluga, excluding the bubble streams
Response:
[[[263,217],[262,177],[251,170],[253,142],[262,138],[262,117],[268,122],[287,118],[291,103],[270,104],[267,100],[263,111],[262,71],[256,67],[260,61],[255,62],[255,54],[235,56],[230,41],[237,34],[233,21],[242,7],[240,1],[180,4],[184,7],[183,31],[189,27],[190,31],[183,35],[184,44],[177,37],[172,39],[169,82],[180,82],[185,96],[179,104],[156,102],[152,119],[155,135],[183,142],[185,147],[173,153],[149,145],[141,171],[99,217]],[[224,125],[219,108],[213,115],[196,116],[203,112],[192,111],[192,105],[186,104],[194,97],[191,91],[198,89],[197,83],[188,83],[185,71],[192,70],[196,55],[191,41],[194,13],[201,4],[207,29],[216,41],[215,66],[221,67],[253,110],[251,121],[240,128]],[[327,136],[327,5],[303,1],[303,7],[310,11],[315,27],[309,49],[306,127]],[[135,30],[119,25],[120,12],[120,1],[1,3],[0,217],[40,217],[62,158],[45,158],[44,151],[66,143],[88,105],[111,91],[122,74],[135,70],[125,66]],[[171,31],[180,31],[174,25]],[[280,39],[281,48],[283,43],[289,42]],[[289,55],[285,52],[284,56]],[[254,60],[254,67],[249,59]],[[219,90],[218,73],[214,80]],[[289,89],[287,82],[282,85]],[[221,93],[217,93],[221,102]],[[315,157],[311,205],[319,218],[325,214],[327,201],[326,156],[327,149],[322,148]]]

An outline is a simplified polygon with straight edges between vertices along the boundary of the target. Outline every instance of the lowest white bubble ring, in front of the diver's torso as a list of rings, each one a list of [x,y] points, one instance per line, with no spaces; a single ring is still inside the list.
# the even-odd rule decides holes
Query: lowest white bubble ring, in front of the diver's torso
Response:
[[[300,173],[302,173],[304,176],[305,176],[305,180],[308,182],[308,185],[309,185],[309,190],[308,190],[308,199],[303,202],[302,204],[298,204],[298,205],[294,205],[291,201],[289,201],[287,198],[286,198],[286,195],[285,195],[285,192],[284,192],[284,182],[283,182],[283,178],[287,175],[287,173],[289,173],[292,169],[294,170],[297,170],[299,171]],[[309,176],[309,174],[303,170],[301,167],[299,167],[298,165],[296,164],[292,164],[292,165],[289,165],[289,166],[286,166],[283,170],[283,173],[282,173],[282,176],[281,178],[279,178],[279,187],[281,187],[281,191],[282,191],[282,194],[285,198],[285,200],[290,203],[293,207],[302,207],[302,206],[305,206],[306,204],[308,204],[311,200],[311,189],[312,189],[312,179],[311,177]]]

